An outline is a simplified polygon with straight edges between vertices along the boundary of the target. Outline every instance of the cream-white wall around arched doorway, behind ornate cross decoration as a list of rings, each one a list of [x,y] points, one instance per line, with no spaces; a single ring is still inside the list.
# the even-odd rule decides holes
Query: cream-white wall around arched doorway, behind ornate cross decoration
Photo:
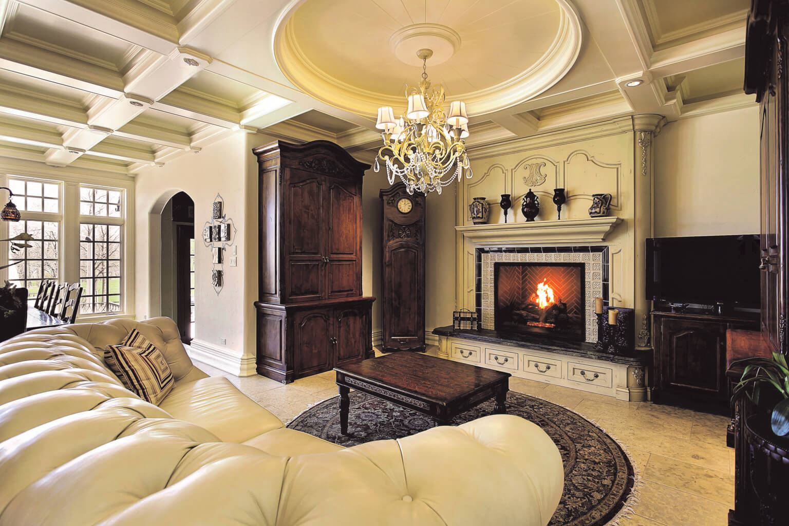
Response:
[[[161,210],[166,201],[179,191],[189,194],[195,203],[195,340],[193,345],[211,352],[254,362],[252,301],[256,295],[256,224],[257,207],[249,201],[248,136],[237,132],[204,147],[200,154],[183,155],[167,162],[163,168],[151,168],[136,178],[136,315],[138,319],[159,315],[160,311],[160,237]],[[264,142],[262,139],[261,142]],[[233,218],[237,229],[237,267],[223,266],[224,287],[217,295],[211,286],[211,251],[202,243],[204,222],[211,218],[211,203],[219,193],[225,213]],[[252,191],[252,194],[256,192]],[[249,277],[254,276],[254,282]],[[251,291],[251,292],[250,292]],[[220,338],[226,344],[219,343]]]

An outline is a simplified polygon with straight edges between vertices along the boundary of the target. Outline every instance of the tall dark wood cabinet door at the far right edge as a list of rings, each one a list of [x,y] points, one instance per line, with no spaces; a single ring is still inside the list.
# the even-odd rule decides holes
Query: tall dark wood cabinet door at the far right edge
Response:
[[[772,62],[786,54],[776,39]],[[782,278],[786,250],[787,175],[783,161],[787,140],[786,80],[772,69],[770,88],[761,101],[761,330],[772,352],[785,351],[787,284]]]

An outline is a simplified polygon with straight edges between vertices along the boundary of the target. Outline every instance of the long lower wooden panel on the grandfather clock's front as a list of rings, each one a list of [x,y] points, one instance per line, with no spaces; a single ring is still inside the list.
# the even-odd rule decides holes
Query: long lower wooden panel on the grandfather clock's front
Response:
[[[414,337],[420,330],[419,294],[414,286],[419,280],[421,251],[410,245],[387,249],[388,289],[391,293],[389,318],[391,338]],[[424,327],[422,327],[424,330]]]

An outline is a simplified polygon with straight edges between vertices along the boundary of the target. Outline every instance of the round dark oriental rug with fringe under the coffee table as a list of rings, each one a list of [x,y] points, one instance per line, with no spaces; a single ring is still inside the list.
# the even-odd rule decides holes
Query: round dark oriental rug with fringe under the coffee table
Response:
[[[341,446],[371,440],[402,438],[436,427],[418,412],[359,391],[350,394],[349,436],[340,434],[339,397],[308,408],[287,427]],[[490,415],[493,401],[484,402],[452,420],[459,424]],[[507,413],[537,423],[548,433],[564,462],[564,491],[551,522],[553,526],[602,526],[618,522],[634,494],[633,463],[619,443],[578,413],[551,402],[510,391]]]

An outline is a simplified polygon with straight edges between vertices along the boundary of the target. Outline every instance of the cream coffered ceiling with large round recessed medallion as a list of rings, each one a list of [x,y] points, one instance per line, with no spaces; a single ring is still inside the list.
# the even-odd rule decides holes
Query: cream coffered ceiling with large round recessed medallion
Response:
[[[0,1],[0,156],[129,175],[230,133],[372,160],[414,50],[476,147],[753,105],[747,0]],[[627,87],[630,80],[641,85]]]

